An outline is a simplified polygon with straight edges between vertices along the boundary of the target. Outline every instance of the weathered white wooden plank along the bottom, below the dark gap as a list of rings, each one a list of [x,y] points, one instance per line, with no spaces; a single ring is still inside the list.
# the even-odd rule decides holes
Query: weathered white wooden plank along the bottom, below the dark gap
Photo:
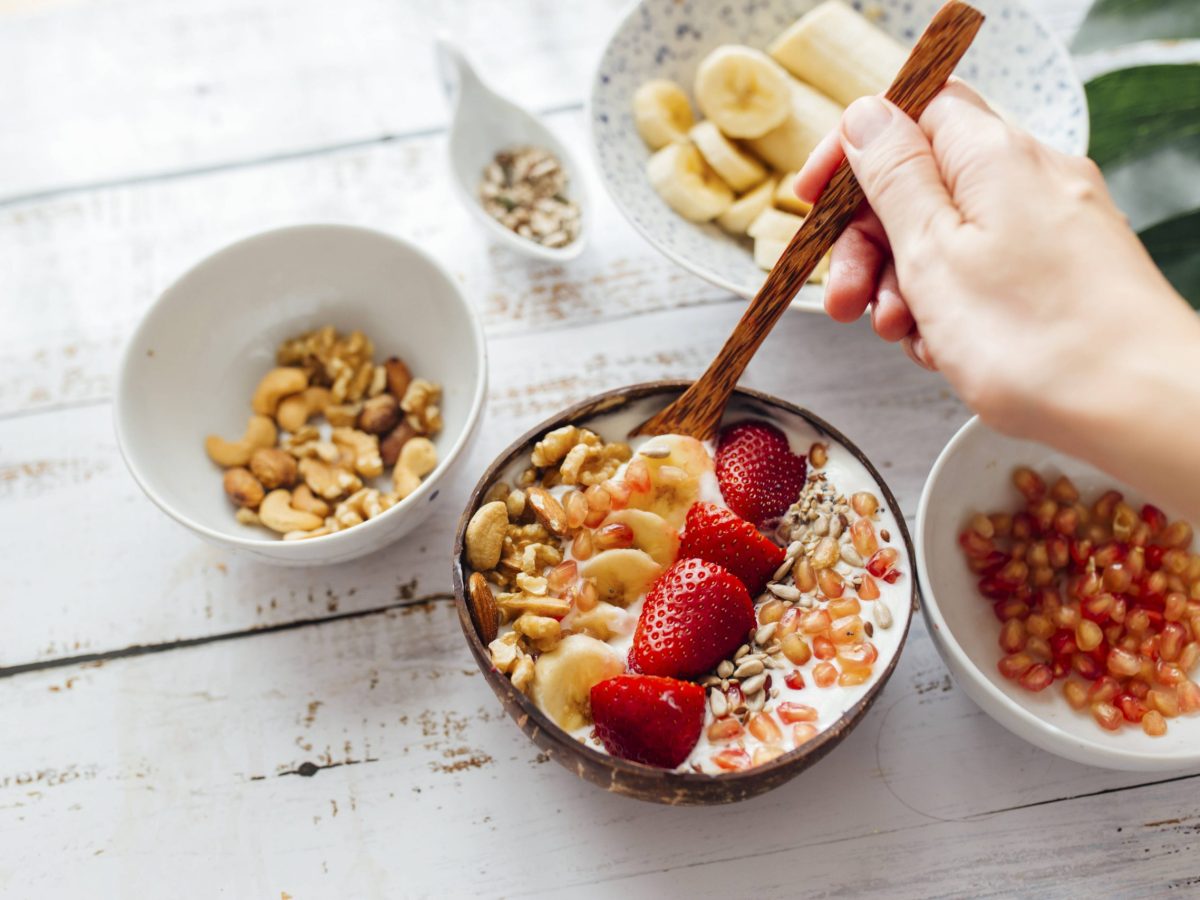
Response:
[[[713,810],[606,794],[545,761],[479,676],[449,602],[28,673],[0,685],[0,838],[13,850],[0,884],[14,896],[1189,893],[1194,780],[1126,790],[1139,776],[1034,750],[943,678],[920,636],[832,756]]]

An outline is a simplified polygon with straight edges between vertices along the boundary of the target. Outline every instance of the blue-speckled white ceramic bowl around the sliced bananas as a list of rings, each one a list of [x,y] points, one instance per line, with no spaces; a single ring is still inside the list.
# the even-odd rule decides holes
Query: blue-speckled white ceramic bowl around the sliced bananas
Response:
[[[646,178],[649,150],[634,126],[632,96],[642,82],[670,78],[691,92],[696,67],[714,47],[763,48],[820,0],[641,0],[608,38],[592,84],[592,146],[617,206],[670,259],[746,299],[766,272],[749,240],[715,224],[697,226],[673,212]],[[1016,124],[1070,154],[1087,150],[1087,101],[1062,43],[1015,0],[972,0],[988,20],[958,74],[982,90]],[[852,0],[878,12],[877,24],[912,46],[942,0]],[[822,287],[796,300],[820,310]]]

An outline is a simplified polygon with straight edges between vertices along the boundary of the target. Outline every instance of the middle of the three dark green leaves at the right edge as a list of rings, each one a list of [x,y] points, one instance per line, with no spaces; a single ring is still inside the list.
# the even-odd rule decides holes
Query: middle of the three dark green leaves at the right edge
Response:
[[[1200,64],[1122,68],[1085,89],[1092,116],[1088,152],[1103,169],[1200,137]]]

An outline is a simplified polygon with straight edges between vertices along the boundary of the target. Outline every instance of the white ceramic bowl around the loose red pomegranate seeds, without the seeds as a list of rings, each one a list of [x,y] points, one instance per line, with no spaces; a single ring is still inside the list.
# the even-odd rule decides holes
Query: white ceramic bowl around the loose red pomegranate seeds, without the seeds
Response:
[[[1009,682],[996,670],[1003,655],[1000,623],[976,589],[958,544],[970,516],[1014,509],[1020,496],[1012,472],[1031,466],[1042,474],[1068,475],[1085,498],[1116,487],[1130,502],[1136,491],[1085,462],[1040,444],[1016,440],[972,419],[934,463],[917,510],[917,572],[929,632],[959,686],[992,719],[1032,744],[1090,766],[1162,772],[1200,764],[1200,716],[1171,719],[1160,738],[1139,727],[1102,730],[1086,712],[1075,712],[1056,680],[1039,694]],[[1168,516],[1171,510],[1165,510]]]

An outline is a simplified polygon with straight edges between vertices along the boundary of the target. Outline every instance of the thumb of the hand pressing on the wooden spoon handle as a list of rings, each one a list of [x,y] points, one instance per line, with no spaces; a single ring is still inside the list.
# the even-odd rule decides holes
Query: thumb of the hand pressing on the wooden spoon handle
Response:
[[[898,259],[930,233],[961,221],[918,125],[880,97],[856,100],[841,118],[841,145]]]

